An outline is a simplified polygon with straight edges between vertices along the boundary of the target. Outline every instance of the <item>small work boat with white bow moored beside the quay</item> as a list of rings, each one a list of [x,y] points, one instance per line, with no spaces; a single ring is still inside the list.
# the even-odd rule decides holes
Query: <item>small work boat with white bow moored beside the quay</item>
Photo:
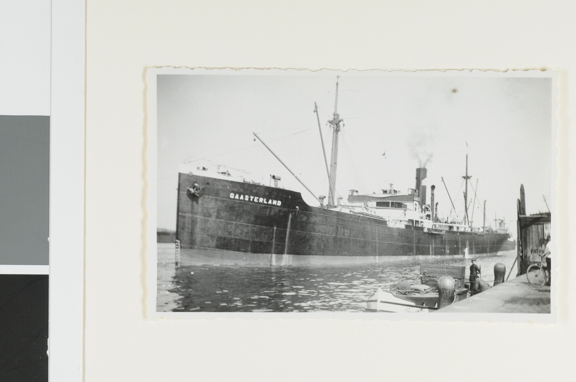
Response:
[[[438,278],[450,276],[456,282],[454,300],[468,297],[464,265],[420,264],[420,281],[403,280],[390,284],[389,291],[378,288],[366,301],[366,308],[375,312],[429,313],[439,308]]]

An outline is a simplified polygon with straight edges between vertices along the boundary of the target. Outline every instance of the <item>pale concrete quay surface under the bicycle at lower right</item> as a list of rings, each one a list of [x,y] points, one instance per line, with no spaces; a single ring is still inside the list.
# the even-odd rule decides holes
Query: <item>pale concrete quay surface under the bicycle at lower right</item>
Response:
[[[436,312],[550,313],[550,287],[532,287],[523,274]]]

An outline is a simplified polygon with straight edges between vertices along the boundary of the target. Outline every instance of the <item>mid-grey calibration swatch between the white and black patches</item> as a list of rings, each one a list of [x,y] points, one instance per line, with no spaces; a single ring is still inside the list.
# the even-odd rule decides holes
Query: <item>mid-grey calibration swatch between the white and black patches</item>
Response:
[[[50,117],[0,116],[0,265],[48,265]]]

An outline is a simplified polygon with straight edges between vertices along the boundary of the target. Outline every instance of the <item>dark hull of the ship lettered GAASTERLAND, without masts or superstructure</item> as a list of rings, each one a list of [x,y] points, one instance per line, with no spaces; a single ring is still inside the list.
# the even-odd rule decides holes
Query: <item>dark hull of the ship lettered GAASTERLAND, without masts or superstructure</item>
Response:
[[[198,184],[197,195],[189,189]],[[494,255],[507,234],[453,232],[312,207],[282,188],[179,174],[181,265],[344,265]]]

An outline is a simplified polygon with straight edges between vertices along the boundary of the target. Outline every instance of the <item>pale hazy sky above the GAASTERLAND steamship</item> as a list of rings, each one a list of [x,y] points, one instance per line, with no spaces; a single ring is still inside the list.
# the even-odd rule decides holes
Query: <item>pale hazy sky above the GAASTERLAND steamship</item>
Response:
[[[379,192],[393,183],[414,188],[426,164],[428,198],[435,185],[439,213],[464,211],[466,155],[468,214],[482,226],[505,219],[516,236],[516,200],[524,184],[528,213],[547,212],[551,197],[551,79],[340,75],[336,190]],[[328,162],[336,75],[158,75],[158,227],[176,227],[178,167],[226,165],[316,199],[255,141],[267,142],[316,195],[328,194],[319,106]],[[384,154],[385,155],[382,155]],[[426,163],[425,163],[426,162]],[[476,184],[478,182],[478,188]],[[476,189],[476,198],[474,189]],[[430,200],[427,201],[430,203]],[[473,215],[472,215],[473,211]],[[491,219],[491,220],[490,220]]]

